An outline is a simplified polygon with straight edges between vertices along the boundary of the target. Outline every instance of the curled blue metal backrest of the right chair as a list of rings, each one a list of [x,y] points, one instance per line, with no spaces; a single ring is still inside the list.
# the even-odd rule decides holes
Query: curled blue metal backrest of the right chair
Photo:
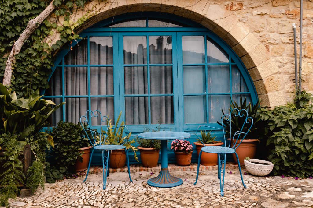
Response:
[[[237,122],[238,126],[234,126],[235,125],[234,120],[239,120],[239,122]],[[227,138],[232,139],[233,148],[236,149],[241,144],[242,140],[244,140],[244,138],[246,138],[248,132],[252,128],[253,119],[251,117],[249,117],[248,111],[246,109],[239,110],[237,108],[234,108],[230,111],[229,114],[223,115],[222,124],[223,124],[223,134],[224,134],[225,143],[226,143],[226,136],[225,135],[227,135],[225,127],[228,125],[229,126],[229,137],[227,137]],[[236,129],[237,131],[235,133],[233,133],[233,135],[232,135],[232,132],[233,132],[232,129],[233,128],[238,128],[238,130]],[[230,147],[230,144],[231,143],[229,142],[228,147]]]

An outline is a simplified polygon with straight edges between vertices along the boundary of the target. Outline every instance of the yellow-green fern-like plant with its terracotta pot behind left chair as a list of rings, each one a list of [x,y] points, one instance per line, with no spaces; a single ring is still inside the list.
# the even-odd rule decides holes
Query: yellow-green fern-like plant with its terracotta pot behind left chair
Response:
[[[102,136],[106,138],[103,138],[104,144],[114,144],[114,145],[124,145],[126,146],[126,149],[131,149],[132,151],[135,152],[135,159],[138,161],[138,157],[136,155],[136,147],[133,146],[132,144],[135,143],[135,140],[129,140],[129,138],[131,137],[131,132],[127,132],[126,136],[123,137],[123,133],[124,133],[124,125],[125,122],[122,121],[121,124],[120,123],[120,118],[121,118],[121,114],[122,111],[120,112],[116,123],[115,123],[115,127],[120,126],[119,128],[113,128],[112,124],[111,124],[111,120],[109,119],[109,125],[108,125],[108,129],[109,130],[102,130]],[[113,129],[110,129],[113,128]],[[138,161],[139,162],[139,161]],[[124,149],[117,149],[117,150],[112,150],[110,152],[110,167],[111,168],[121,168],[124,167],[126,163],[126,153]]]

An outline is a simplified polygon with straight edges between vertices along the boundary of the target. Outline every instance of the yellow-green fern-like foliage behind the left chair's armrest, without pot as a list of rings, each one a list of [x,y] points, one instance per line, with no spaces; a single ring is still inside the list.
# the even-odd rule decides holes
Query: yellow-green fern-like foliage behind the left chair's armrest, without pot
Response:
[[[102,141],[104,141],[104,144],[124,145],[126,149],[131,149],[132,151],[134,151],[135,159],[138,161],[138,157],[136,154],[137,148],[134,145],[132,145],[133,143],[135,143],[135,140],[134,139],[129,140],[131,137],[131,132],[126,133],[126,136],[123,137],[123,133],[124,133],[123,125],[125,125],[125,122],[122,121],[121,124],[119,124],[120,119],[121,119],[121,114],[122,112],[120,112],[115,123],[115,127],[120,126],[119,128],[113,128],[111,119],[109,119],[108,130],[105,130],[105,129],[102,130],[102,136],[105,137],[105,134],[106,134],[106,138],[102,138],[103,139]]]

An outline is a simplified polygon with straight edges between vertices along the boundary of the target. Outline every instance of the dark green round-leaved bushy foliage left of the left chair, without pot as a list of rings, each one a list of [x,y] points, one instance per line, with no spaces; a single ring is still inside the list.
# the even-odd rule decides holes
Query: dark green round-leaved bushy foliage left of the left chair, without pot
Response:
[[[83,160],[80,148],[89,147],[91,144],[85,137],[80,123],[59,121],[50,134],[54,138],[53,154],[56,164],[55,166],[49,165],[46,177],[48,182],[55,182],[61,174],[68,176],[72,173],[70,166],[75,164],[76,159],[80,162]]]

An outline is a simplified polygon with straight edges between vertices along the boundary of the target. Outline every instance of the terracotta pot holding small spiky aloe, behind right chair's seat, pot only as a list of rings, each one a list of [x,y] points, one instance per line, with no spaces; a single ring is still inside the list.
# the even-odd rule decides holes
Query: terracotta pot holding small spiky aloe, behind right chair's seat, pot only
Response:
[[[200,153],[201,148],[203,148],[203,144],[198,143],[198,142],[194,142],[194,144],[196,145],[197,154],[199,157],[199,153]],[[223,144],[224,144],[223,142],[216,142],[213,144],[205,144],[205,146],[222,146]],[[202,152],[201,159],[200,159],[201,165],[213,166],[213,165],[217,165],[217,161],[218,161],[217,154]]]

